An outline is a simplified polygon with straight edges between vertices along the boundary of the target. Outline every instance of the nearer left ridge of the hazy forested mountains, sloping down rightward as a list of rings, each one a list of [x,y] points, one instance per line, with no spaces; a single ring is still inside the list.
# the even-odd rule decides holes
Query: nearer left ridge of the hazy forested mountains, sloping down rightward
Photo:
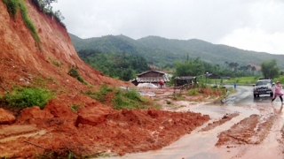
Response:
[[[159,67],[165,64],[170,64],[172,67],[174,60],[178,57],[174,56],[170,51],[147,47],[123,35],[107,35],[84,40],[72,34],[70,34],[70,37],[77,52],[83,49],[92,49],[104,53],[128,53],[130,55],[145,57],[148,64],[155,64]]]

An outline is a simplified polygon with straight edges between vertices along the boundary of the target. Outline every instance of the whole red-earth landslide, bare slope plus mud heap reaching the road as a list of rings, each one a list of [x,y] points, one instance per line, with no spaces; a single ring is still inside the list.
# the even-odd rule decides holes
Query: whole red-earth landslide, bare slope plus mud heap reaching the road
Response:
[[[12,18],[0,1],[0,95],[13,87],[44,87],[55,93],[41,110],[0,109],[0,157],[56,158],[125,153],[162,148],[209,120],[193,112],[114,110],[83,94],[103,84],[133,87],[84,64],[62,27],[24,1],[40,38],[36,44],[20,12]],[[79,2],[78,2],[79,3]],[[75,68],[88,84],[69,76]],[[71,105],[80,105],[72,111]]]

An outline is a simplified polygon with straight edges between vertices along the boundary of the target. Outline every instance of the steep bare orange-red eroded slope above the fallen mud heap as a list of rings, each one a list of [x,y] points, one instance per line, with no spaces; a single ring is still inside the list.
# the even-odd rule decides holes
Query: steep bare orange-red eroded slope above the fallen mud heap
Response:
[[[5,87],[12,86],[12,84],[5,84],[7,82],[22,84],[20,79],[28,79],[28,75],[34,77],[41,75],[45,79],[54,78],[60,83],[58,87],[73,86],[74,83],[78,88],[84,87],[67,75],[72,65],[78,69],[83,79],[93,86],[103,83],[112,86],[130,86],[129,83],[110,79],[84,64],[77,56],[66,28],[60,26],[50,16],[37,11],[33,4],[26,3],[26,5],[28,16],[33,21],[40,37],[40,48],[36,47],[36,42],[21,19],[20,12],[17,13],[15,19],[12,19],[1,2],[0,51],[1,70],[3,71],[1,76]],[[66,81],[67,79],[69,82]]]

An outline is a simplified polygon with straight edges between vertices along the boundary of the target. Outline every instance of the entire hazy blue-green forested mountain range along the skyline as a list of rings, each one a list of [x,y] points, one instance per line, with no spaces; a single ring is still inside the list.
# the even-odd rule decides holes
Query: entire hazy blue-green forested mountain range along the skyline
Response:
[[[201,57],[210,64],[225,66],[230,63],[241,65],[260,65],[264,60],[276,59],[280,69],[284,69],[284,55],[273,55],[265,52],[248,51],[226,45],[212,44],[197,39],[172,40],[158,36],[147,36],[133,40],[124,35],[106,35],[89,39],[81,39],[70,34],[76,51],[95,49],[105,53],[129,53],[146,58],[148,64],[159,67],[172,67],[175,60]]]

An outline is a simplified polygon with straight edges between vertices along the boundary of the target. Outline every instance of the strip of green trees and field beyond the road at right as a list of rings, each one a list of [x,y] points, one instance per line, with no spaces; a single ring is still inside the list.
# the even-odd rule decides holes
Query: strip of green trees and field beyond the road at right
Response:
[[[230,66],[232,65],[232,66]],[[214,69],[215,68],[215,69]],[[243,69],[241,69],[243,68]],[[238,64],[230,63],[229,69],[214,67],[212,64],[202,62],[200,58],[190,60],[189,57],[185,61],[176,61],[173,77],[170,84],[173,85],[173,79],[178,76],[195,76],[198,85],[208,84],[210,86],[222,85],[252,85],[257,79],[272,79],[273,81],[284,81],[284,72],[280,72],[280,68],[275,59],[266,60],[261,63],[261,70],[256,73],[256,68],[248,64],[245,67],[238,67]],[[226,72],[226,73],[225,73]],[[206,74],[214,73],[220,79],[209,79]]]

